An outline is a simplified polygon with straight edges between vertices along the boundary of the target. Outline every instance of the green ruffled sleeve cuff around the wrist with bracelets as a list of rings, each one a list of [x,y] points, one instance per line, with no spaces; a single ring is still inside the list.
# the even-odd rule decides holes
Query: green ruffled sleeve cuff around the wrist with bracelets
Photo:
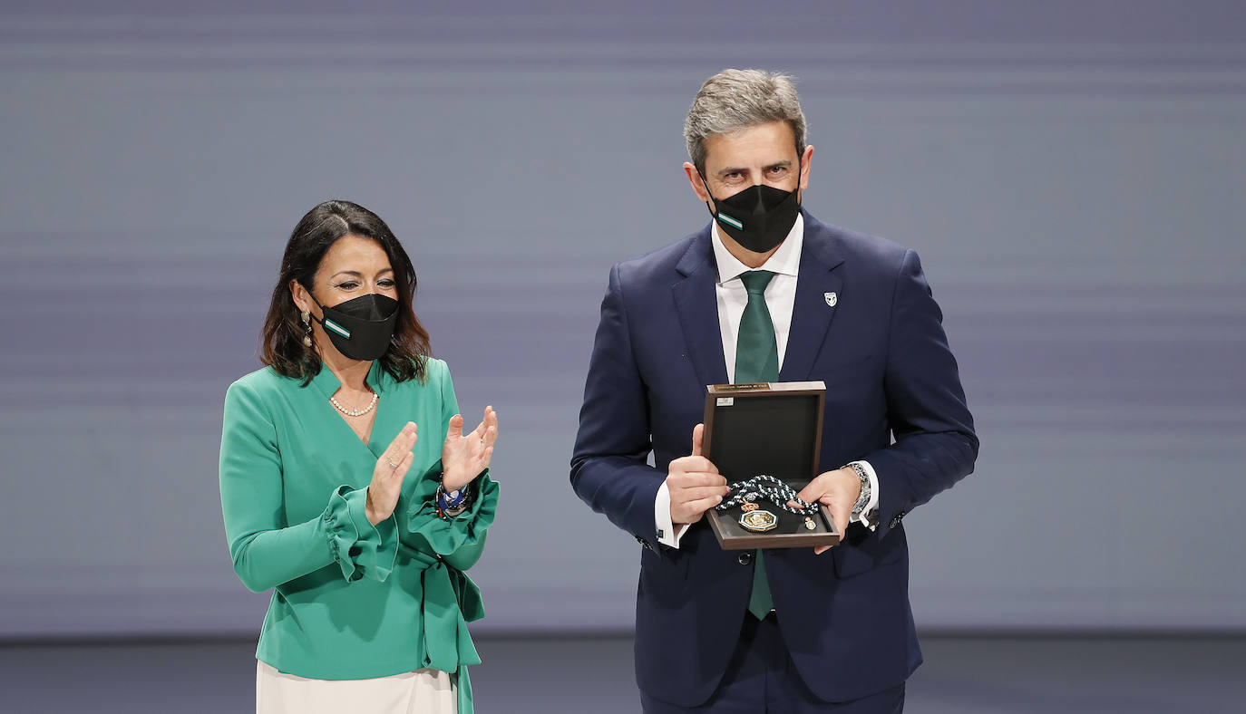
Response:
[[[497,484],[488,476],[488,469],[481,471],[471,483],[471,505],[457,516],[442,519],[437,515],[436,493],[441,474],[439,460],[420,479],[415,498],[407,511],[406,527],[424,536],[437,555],[451,555],[465,545],[475,545],[488,526],[493,524],[497,511]]]

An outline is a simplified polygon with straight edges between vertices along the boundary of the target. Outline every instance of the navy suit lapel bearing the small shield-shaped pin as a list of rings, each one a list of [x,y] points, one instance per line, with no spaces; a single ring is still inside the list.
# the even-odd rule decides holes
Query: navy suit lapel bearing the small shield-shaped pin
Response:
[[[835,318],[836,307],[829,305],[844,299],[844,279],[835,267],[844,262],[835,250],[830,231],[825,225],[805,215],[805,241],[800,251],[800,274],[796,279],[796,300],[791,308],[791,330],[787,332],[787,350],[784,353],[782,382],[801,382],[809,378],[814,361],[826,342],[826,332]],[[721,338],[719,340],[721,341]]]

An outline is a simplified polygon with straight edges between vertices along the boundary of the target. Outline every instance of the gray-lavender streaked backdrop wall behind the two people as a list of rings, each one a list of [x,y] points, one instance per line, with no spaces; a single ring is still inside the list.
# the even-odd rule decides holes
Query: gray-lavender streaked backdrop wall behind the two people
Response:
[[[680,127],[725,66],[796,76],[805,205],[947,313],[983,448],[906,521],[920,624],[1246,628],[1240,2],[112,5],[0,9],[0,637],[258,629],[221,406],[326,198],[501,414],[477,632],[629,627],[567,461],[611,264],[706,221]]]

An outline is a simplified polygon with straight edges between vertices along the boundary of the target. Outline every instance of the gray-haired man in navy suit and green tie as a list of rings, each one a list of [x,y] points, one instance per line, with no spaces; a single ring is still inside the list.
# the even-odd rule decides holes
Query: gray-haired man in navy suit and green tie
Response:
[[[800,206],[814,147],[791,81],[725,70],[684,126],[713,216],[613,267],[571,481],[643,546],[635,670],[652,714],[901,712],[921,663],[901,520],[973,470],[978,439],[917,254]],[[725,551],[701,455],[705,386],[826,383],[801,493],[846,539]],[[648,465],[653,454],[654,465]]]

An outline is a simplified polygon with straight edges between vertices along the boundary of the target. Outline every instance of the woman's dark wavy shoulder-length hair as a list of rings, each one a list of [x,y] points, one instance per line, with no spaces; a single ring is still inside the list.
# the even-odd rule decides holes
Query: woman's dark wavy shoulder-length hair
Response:
[[[309,210],[294,226],[294,233],[285,244],[282,272],[273,287],[273,300],[260,333],[260,362],[270,364],[287,377],[303,379],[304,386],[320,373],[321,362],[315,343],[312,347],[303,346],[303,325],[299,308],[290,295],[290,281],[298,280],[310,292],[324,254],[344,235],[370,238],[389,256],[394,282],[397,284],[399,307],[394,337],[380,357],[381,368],[399,382],[416,379],[422,384],[425,359],[430,351],[429,332],[411,310],[415,267],[385,221],[349,200],[326,200]]]

